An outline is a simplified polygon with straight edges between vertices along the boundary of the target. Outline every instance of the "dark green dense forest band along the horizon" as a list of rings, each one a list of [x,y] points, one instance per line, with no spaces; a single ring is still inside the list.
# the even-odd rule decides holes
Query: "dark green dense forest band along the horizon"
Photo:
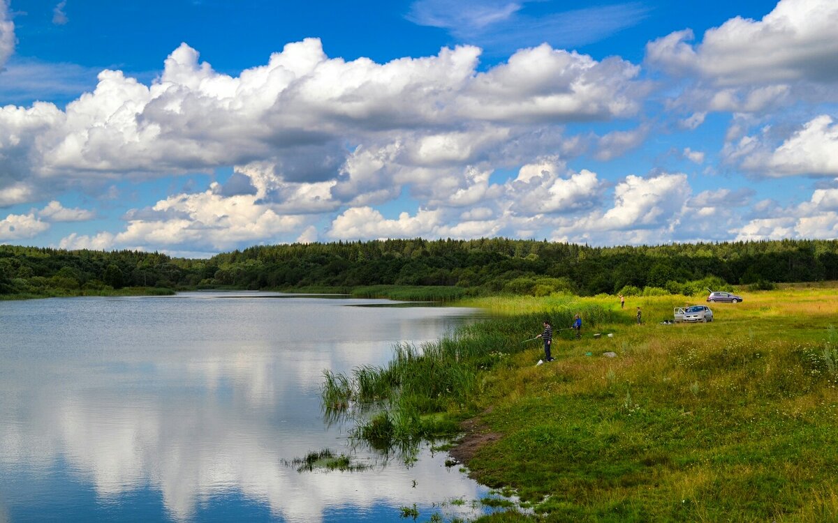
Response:
[[[257,246],[210,259],[0,245],[0,295],[370,285],[439,285],[467,294],[691,295],[706,286],[824,279],[838,279],[838,240],[589,247],[507,238],[416,238]]]

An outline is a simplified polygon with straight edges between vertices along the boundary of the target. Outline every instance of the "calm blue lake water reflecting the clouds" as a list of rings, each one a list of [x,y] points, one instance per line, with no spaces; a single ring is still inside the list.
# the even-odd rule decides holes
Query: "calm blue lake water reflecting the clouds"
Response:
[[[389,361],[474,317],[385,300],[184,293],[0,302],[0,522],[404,521],[472,516],[487,490],[423,449],[363,472],[323,421],[323,370]],[[465,505],[450,503],[464,500]],[[438,505],[443,503],[442,508]],[[433,504],[437,504],[436,507]]]

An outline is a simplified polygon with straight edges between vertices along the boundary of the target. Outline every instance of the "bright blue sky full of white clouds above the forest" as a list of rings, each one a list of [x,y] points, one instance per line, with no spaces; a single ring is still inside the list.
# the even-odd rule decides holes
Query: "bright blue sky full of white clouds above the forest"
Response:
[[[836,27],[835,0],[0,0],[0,244],[836,238]]]

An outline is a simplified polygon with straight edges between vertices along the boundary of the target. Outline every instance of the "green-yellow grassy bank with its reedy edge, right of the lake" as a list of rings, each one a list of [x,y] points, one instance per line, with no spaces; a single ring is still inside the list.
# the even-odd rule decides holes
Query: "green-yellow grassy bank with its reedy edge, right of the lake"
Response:
[[[835,285],[746,293],[712,305],[712,323],[660,325],[696,300],[472,300],[497,319],[345,377],[350,405],[387,405],[360,436],[410,441],[472,418],[468,438],[484,444],[470,474],[549,520],[838,520]],[[541,346],[520,341],[577,310],[583,339],[557,336],[556,361],[535,367]]]

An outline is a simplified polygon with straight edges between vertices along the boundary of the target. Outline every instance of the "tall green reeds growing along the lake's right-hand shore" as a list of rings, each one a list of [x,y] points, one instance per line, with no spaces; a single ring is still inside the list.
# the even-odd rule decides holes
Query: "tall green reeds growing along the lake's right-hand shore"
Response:
[[[452,435],[454,420],[476,408],[481,372],[532,348],[522,341],[540,334],[542,321],[569,327],[577,313],[587,326],[615,319],[601,305],[567,303],[545,314],[478,321],[422,346],[398,343],[386,366],[355,367],[349,375],[324,372],[323,405],[332,413],[353,414],[354,436],[376,449]]]

